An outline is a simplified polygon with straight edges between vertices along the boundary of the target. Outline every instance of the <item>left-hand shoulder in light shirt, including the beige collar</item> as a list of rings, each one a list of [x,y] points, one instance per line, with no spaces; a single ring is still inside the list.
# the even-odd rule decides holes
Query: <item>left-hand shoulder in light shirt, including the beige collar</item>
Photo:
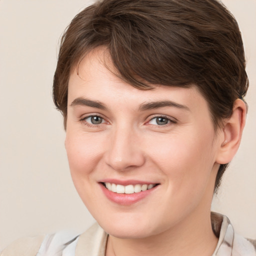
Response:
[[[72,232],[20,238],[8,245],[0,256],[87,256],[104,255],[107,234],[97,224],[80,235]]]

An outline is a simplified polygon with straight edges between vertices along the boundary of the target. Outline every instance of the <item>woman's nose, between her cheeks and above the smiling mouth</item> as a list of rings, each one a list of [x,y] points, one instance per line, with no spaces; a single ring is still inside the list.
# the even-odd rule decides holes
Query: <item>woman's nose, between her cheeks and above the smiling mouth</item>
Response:
[[[139,137],[128,128],[116,129],[109,138],[105,162],[117,171],[134,169],[144,164],[145,156],[139,145]]]

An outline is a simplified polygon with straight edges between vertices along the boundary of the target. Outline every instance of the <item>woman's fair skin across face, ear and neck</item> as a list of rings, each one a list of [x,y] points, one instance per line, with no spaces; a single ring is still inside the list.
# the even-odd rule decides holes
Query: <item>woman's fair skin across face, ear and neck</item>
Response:
[[[112,72],[104,48],[87,54],[76,71],[65,147],[81,199],[109,233],[106,255],[211,255],[214,181],[238,148],[244,103],[236,100],[215,132],[196,87],[134,88]],[[109,191],[109,183],[110,190],[150,186],[125,194]]]

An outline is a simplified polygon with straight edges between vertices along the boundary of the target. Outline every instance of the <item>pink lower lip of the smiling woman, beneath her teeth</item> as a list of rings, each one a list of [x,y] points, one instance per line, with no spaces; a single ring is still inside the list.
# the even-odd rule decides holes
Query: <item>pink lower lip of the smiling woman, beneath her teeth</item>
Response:
[[[103,193],[105,194],[105,196],[109,200],[121,205],[130,205],[132,203],[142,200],[143,198],[148,196],[151,192],[153,192],[157,186],[154,186],[151,189],[147,189],[145,191],[141,191],[138,193],[124,194],[124,193],[114,193],[112,191],[109,191],[103,184],[100,183],[100,187]]]

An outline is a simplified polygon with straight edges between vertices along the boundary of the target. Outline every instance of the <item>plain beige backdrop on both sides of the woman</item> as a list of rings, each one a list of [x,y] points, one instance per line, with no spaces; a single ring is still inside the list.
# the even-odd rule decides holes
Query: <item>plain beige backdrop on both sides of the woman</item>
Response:
[[[58,39],[87,0],[0,0],[0,248],[24,235],[93,218],[68,171],[60,113],[51,100]],[[212,209],[256,238],[256,0],[224,0],[240,25],[250,89],[240,149]]]

